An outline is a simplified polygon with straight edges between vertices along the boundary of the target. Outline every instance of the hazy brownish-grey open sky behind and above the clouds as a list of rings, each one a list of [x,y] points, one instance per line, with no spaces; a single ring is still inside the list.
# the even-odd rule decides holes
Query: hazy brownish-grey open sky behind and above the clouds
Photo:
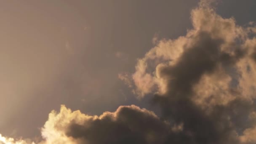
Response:
[[[222,19],[234,17],[241,27],[256,21],[255,0],[217,1],[214,11]],[[154,37],[175,40],[187,35],[188,29],[195,29],[191,20],[197,18],[192,18],[191,11],[198,3],[199,0],[1,1],[0,133],[14,138],[40,137],[48,114],[60,109],[61,104],[88,115],[135,104],[161,115],[159,109],[163,107],[152,106],[154,87],[148,85],[149,92],[145,89],[147,83],[140,81],[145,73],[140,75],[135,69],[137,60],[149,59],[145,53],[157,45]],[[166,72],[179,77],[172,73],[175,68]],[[154,70],[157,67],[153,66]],[[136,72],[142,79],[131,78]],[[133,88],[118,78],[124,73],[130,76]],[[164,74],[165,71],[160,77]],[[138,99],[134,89],[147,96]],[[170,91],[173,90],[170,88],[167,93],[175,95]]]

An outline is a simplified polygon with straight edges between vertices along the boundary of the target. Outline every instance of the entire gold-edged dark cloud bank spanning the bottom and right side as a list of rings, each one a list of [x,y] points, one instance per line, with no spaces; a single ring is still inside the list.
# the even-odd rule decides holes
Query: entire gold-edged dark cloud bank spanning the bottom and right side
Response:
[[[131,76],[140,98],[155,93],[160,117],[135,105],[100,116],[61,106],[49,114],[39,144],[256,144],[254,23],[224,19],[209,1],[191,20],[185,36],[154,40]],[[131,87],[127,74],[119,77]]]

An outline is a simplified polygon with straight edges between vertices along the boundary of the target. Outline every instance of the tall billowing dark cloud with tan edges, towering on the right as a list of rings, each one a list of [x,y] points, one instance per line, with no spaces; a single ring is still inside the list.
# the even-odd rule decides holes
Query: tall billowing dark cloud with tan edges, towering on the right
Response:
[[[241,27],[224,19],[206,0],[191,20],[187,35],[159,40],[138,60],[137,94],[155,93],[163,119],[183,124],[176,136],[181,143],[255,143],[256,123],[249,120],[256,110],[253,23]]]

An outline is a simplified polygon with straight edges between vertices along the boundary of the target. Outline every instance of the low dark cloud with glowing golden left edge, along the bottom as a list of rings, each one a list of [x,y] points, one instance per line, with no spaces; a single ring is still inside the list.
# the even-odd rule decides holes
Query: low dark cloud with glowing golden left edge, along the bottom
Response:
[[[169,127],[154,112],[134,105],[100,116],[62,106],[59,114],[51,112],[42,136],[50,144],[156,144],[164,141]]]

